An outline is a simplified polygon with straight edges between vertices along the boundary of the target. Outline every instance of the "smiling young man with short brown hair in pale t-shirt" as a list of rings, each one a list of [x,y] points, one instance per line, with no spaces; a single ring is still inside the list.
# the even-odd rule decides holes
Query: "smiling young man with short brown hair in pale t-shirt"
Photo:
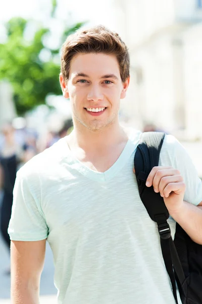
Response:
[[[18,171],[9,227],[14,304],[38,303],[46,239],[58,303],[175,304],[156,223],[133,173],[140,132],[119,124],[129,80],[118,34],[97,26],[67,38],[60,83],[74,130]],[[164,197],[172,235],[178,221],[202,244],[201,181],[172,136],[160,165],[147,185]]]

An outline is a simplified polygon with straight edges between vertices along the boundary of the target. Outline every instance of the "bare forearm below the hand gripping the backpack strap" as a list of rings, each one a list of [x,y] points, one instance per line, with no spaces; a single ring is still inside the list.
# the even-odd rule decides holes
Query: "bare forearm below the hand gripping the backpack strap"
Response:
[[[170,215],[195,243],[202,245],[202,207],[184,202],[178,212]]]

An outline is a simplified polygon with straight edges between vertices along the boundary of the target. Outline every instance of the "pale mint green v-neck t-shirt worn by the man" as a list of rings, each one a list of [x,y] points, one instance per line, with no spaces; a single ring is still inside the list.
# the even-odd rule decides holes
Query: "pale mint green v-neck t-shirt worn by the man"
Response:
[[[133,173],[139,136],[131,130],[121,156],[104,173],[75,159],[66,138],[18,171],[9,234],[17,241],[47,238],[59,304],[175,304],[157,225]],[[180,170],[187,202],[202,201],[192,161],[171,135],[160,165]],[[169,224],[174,237],[176,223],[170,218]]]

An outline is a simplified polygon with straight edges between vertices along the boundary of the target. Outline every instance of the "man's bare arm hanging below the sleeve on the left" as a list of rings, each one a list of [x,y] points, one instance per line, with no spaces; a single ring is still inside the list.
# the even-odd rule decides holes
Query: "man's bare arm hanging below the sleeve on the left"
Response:
[[[11,241],[12,304],[39,304],[46,240]]]

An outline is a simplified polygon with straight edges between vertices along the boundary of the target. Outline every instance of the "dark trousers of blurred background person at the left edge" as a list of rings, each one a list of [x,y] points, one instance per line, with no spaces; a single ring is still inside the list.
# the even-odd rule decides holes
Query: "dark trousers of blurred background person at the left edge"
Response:
[[[13,204],[13,194],[5,192],[3,194],[3,200],[2,200],[2,208],[0,211],[0,230],[3,237],[3,240],[5,241],[8,249],[10,250],[11,241],[8,234],[8,227],[9,227],[9,221],[11,218],[11,211],[12,211],[12,204]]]

